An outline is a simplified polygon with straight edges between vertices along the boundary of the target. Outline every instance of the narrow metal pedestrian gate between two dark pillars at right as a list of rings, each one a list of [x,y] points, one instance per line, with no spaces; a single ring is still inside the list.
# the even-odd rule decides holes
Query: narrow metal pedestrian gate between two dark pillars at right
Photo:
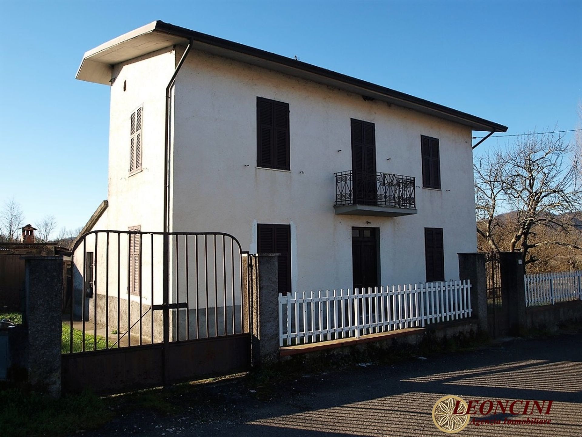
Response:
[[[487,271],[487,326],[489,336],[503,337],[508,333],[507,299],[503,299],[499,252],[485,253]]]

